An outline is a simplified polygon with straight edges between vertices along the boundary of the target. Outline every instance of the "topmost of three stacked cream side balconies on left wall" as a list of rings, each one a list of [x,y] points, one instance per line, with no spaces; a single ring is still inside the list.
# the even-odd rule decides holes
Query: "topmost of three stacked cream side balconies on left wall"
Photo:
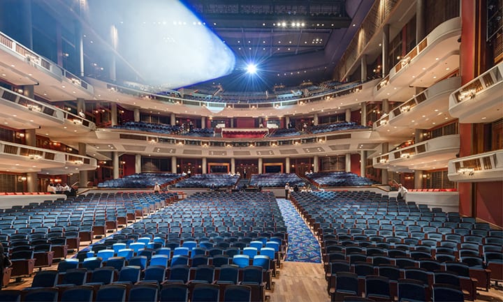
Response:
[[[92,98],[93,87],[56,63],[0,33],[0,78],[17,86],[35,85],[35,93],[48,100]]]

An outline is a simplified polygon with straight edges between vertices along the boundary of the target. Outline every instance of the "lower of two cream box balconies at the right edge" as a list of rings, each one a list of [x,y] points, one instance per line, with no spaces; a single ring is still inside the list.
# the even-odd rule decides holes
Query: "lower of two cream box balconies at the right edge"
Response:
[[[503,150],[449,160],[450,181],[503,181]]]

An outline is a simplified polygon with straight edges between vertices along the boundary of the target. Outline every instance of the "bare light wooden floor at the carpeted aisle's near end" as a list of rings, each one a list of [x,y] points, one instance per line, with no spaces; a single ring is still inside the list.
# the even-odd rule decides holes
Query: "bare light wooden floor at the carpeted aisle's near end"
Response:
[[[275,291],[268,292],[270,302],[328,302],[327,282],[323,278],[323,264],[282,262]]]

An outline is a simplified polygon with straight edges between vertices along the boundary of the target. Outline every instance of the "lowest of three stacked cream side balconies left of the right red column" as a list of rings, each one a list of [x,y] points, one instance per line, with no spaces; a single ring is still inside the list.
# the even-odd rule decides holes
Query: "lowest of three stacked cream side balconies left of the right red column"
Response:
[[[372,165],[374,168],[396,172],[441,169],[447,166],[449,160],[455,158],[459,147],[459,135],[435,137],[374,157]]]

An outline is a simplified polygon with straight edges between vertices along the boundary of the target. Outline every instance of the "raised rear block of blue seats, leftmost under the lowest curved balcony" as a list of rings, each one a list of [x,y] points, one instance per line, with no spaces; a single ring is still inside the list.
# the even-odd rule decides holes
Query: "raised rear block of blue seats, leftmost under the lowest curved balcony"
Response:
[[[175,173],[138,173],[120,179],[110,179],[98,184],[98,188],[150,188],[159,183],[163,186],[182,179],[182,174]]]

